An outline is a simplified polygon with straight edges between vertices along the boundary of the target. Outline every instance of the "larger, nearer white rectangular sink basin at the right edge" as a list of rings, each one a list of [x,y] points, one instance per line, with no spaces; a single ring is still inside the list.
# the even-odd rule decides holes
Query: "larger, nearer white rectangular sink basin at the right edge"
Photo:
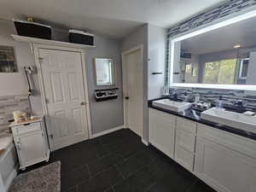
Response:
[[[210,120],[222,125],[228,125],[240,130],[256,133],[256,117],[243,113],[225,111],[224,109],[210,108],[201,113],[201,119]]]

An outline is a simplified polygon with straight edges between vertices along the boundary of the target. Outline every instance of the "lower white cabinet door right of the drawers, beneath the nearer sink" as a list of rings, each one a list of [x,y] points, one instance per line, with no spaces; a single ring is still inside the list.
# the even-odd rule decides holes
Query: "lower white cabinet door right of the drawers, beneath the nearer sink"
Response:
[[[196,142],[194,171],[218,191],[256,191],[256,160],[201,137]]]

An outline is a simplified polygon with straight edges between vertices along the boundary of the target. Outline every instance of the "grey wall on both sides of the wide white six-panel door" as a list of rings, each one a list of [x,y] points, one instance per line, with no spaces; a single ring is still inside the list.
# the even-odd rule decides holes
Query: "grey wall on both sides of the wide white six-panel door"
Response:
[[[26,43],[16,42],[10,37],[15,33],[15,28],[11,20],[0,19],[0,44],[15,47],[16,61],[18,63],[20,73],[0,73],[0,96],[10,96],[16,94],[24,94],[27,91],[26,79],[22,70],[24,66],[35,66],[34,56],[30,47]],[[56,40],[67,41],[67,30],[54,30],[53,38]],[[117,64],[118,87],[122,90],[121,83],[121,64],[120,64],[120,47],[119,41],[105,38],[99,35],[95,36],[96,49],[85,50],[85,61],[87,70],[87,80],[90,96],[90,116],[92,124],[92,132],[98,133],[107,131],[113,127],[123,125],[123,102],[121,91],[120,96],[116,100],[106,102],[95,102],[93,93],[95,89],[108,88],[96,87],[95,76],[93,71],[94,57],[114,57]],[[15,78],[14,78],[15,76]],[[37,74],[33,75],[34,88],[37,90],[36,96],[31,96],[32,112],[36,114],[43,113],[40,92],[38,89]]]

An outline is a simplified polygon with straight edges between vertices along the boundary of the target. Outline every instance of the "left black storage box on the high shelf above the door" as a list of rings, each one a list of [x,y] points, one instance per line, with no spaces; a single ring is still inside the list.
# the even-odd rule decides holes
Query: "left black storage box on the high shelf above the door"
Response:
[[[45,26],[40,23],[24,21],[24,20],[13,20],[13,21],[15,23],[16,32],[20,36],[51,39],[50,26]]]

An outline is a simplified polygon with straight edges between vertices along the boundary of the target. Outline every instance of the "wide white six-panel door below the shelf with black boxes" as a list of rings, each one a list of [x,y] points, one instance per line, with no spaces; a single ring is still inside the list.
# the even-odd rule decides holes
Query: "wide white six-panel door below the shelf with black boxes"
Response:
[[[88,139],[81,53],[38,49],[54,149]]]

